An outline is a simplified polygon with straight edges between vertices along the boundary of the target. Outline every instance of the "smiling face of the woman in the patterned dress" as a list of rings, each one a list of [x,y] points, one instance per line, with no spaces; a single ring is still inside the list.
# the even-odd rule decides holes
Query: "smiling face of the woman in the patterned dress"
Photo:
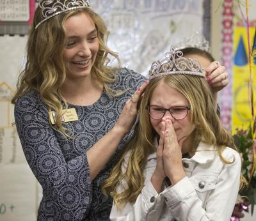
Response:
[[[79,13],[67,19],[65,28],[67,47],[63,59],[67,66],[67,78],[87,77],[99,50],[95,24],[89,15]]]

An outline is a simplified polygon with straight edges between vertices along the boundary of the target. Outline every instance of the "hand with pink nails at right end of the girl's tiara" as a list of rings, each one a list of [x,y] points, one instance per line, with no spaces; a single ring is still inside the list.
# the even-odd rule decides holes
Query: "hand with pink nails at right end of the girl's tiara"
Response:
[[[218,61],[213,61],[206,69],[206,80],[211,86],[213,93],[217,93],[228,85],[229,78],[226,68]]]

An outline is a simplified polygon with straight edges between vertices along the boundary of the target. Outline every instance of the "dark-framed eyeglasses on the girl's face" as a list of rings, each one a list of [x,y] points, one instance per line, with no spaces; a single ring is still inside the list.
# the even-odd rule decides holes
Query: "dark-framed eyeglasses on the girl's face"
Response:
[[[166,110],[170,112],[174,119],[184,119],[186,116],[188,116],[188,110],[190,110],[190,107],[175,106],[171,107],[170,109],[165,109],[156,105],[150,105],[147,106],[146,109],[148,110],[150,117],[153,119],[163,118]]]

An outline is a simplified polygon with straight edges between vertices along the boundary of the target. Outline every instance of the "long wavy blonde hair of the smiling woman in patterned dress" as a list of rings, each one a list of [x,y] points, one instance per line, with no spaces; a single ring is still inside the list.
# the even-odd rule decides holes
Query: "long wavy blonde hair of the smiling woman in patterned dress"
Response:
[[[90,8],[70,10],[55,15],[35,29],[36,24],[44,19],[42,10],[38,7],[29,31],[26,66],[19,75],[17,91],[12,99],[12,103],[15,103],[21,95],[29,93],[29,91],[39,93],[49,111],[56,112],[54,128],[64,135],[67,133],[65,133],[66,128],[61,125],[61,115],[62,110],[67,109],[67,102],[61,96],[60,89],[66,80],[67,73],[63,61],[63,52],[67,45],[65,22],[69,17],[79,13],[86,13],[90,16],[95,24],[99,39],[99,51],[91,73],[104,86],[107,93],[115,94],[115,91],[112,91],[108,86],[109,82],[115,81],[115,68],[108,66],[108,55],[116,58],[118,64],[120,64],[120,60],[117,54],[106,46],[109,31],[99,15]],[[51,123],[51,121],[49,122]]]

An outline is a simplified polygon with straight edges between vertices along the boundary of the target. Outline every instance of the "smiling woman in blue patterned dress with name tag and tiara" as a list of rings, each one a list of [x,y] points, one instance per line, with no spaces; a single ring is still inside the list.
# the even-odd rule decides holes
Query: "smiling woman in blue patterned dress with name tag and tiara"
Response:
[[[88,0],[42,0],[35,11],[12,102],[22,148],[43,188],[38,220],[109,220],[112,199],[101,185],[132,135],[147,82],[108,66],[109,56],[118,57],[107,36]],[[209,68],[222,74],[221,66]]]

